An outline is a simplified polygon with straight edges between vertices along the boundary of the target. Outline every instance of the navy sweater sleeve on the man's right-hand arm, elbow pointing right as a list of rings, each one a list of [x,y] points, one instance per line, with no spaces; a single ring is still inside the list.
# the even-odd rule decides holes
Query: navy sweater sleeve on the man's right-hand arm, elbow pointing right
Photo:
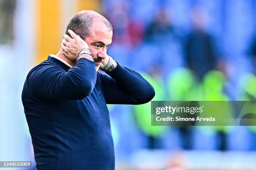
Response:
[[[108,75],[101,80],[107,104],[139,105],[155,96],[152,85],[134,70],[118,64]]]

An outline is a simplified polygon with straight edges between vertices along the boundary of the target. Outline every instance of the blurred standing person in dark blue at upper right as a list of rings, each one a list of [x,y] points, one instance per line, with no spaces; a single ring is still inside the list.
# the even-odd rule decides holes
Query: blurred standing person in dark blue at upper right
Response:
[[[205,30],[205,13],[202,7],[194,7],[192,11],[192,32],[185,45],[187,66],[202,80],[205,74],[216,68],[216,49],[211,35]]]

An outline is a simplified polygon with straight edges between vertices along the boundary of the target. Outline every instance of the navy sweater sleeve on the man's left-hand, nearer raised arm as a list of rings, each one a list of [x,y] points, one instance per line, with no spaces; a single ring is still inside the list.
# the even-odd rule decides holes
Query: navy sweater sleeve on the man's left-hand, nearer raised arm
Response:
[[[68,71],[57,65],[44,65],[31,71],[28,88],[42,100],[80,100],[92,92],[96,83],[95,62],[80,58]]]

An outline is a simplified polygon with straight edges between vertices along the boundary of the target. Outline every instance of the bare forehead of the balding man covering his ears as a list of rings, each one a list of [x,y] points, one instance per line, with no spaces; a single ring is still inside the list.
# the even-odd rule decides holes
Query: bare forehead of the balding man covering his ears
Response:
[[[106,25],[102,22],[94,22],[90,35],[86,38],[87,41],[98,42],[101,41],[108,45],[112,42],[113,32],[109,31]]]

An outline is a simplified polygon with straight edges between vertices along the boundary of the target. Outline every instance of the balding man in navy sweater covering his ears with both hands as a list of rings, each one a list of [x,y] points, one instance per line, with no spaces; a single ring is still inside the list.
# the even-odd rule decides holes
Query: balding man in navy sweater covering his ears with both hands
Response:
[[[22,102],[38,170],[114,170],[106,104],[137,105],[154,97],[141,75],[107,55],[112,30],[96,12],[77,13],[59,52],[28,73]]]

